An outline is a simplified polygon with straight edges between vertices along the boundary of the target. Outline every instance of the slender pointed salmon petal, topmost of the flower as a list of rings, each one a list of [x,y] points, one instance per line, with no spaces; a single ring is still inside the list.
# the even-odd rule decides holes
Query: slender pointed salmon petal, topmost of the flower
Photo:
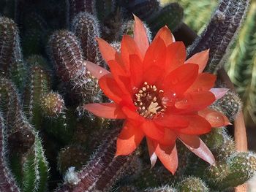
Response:
[[[142,55],[145,55],[146,50],[148,49],[149,46],[146,28],[144,27],[142,21],[138,17],[136,17],[135,15],[133,16],[135,18],[133,39],[135,39],[135,42],[140,49],[140,53]]]

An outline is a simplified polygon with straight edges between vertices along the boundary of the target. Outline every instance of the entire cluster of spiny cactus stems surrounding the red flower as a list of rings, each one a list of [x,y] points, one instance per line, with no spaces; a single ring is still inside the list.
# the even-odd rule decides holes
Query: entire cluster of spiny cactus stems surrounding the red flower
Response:
[[[189,55],[211,48],[208,72],[220,67],[247,5],[220,1],[190,47]],[[108,70],[96,38],[120,50],[121,37],[133,36],[132,13],[145,22],[148,39],[165,25],[175,31],[184,15],[179,4],[20,0],[3,7],[10,18],[0,16],[0,191],[225,191],[255,174],[256,155],[236,152],[226,128],[202,137],[216,166],[177,143],[180,166],[171,175],[160,164],[150,169],[146,145],[115,157],[122,122],[83,110],[83,104],[108,101],[85,62]],[[15,15],[6,14],[10,9]],[[232,121],[241,101],[229,91],[211,107]]]

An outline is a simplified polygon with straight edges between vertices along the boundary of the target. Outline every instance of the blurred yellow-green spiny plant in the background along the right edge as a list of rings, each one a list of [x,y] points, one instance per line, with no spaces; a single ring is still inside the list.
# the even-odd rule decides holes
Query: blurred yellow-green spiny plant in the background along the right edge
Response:
[[[256,4],[252,2],[241,33],[228,60],[228,74],[244,103],[247,125],[255,124]]]

